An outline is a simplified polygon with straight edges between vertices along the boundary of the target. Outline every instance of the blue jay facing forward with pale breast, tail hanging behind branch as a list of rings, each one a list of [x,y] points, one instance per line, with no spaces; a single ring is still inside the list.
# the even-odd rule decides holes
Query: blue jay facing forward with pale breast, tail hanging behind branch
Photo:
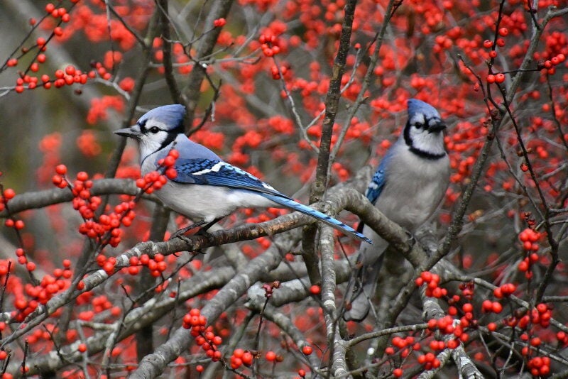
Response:
[[[449,158],[444,149],[446,125],[430,104],[408,100],[408,121],[387,151],[368,185],[366,197],[388,219],[414,233],[442,201],[449,184]],[[361,245],[359,268],[346,289],[347,321],[363,320],[370,309],[388,243],[366,225],[359,231],[373,241]]]

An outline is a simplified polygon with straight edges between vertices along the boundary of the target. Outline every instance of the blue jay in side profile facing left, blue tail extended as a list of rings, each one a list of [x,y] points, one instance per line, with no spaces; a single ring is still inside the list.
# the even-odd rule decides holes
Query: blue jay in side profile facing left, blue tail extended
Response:
[[[223,162],[203,145],[190,141],[184,134],[184,116],[185,107],[180,104],[160,106],[148,111],[130,128],[114,132],[138,141],[142,175],[157,170],[158,160],[165,158],[171,148],[180,153],[175,161],[178,176],[155,192],[170,209],[195,222],[175,236],[197,226],[204,231],[237,208],[285,207],[371,243],[341,221],[295,202],[249,172]]]

